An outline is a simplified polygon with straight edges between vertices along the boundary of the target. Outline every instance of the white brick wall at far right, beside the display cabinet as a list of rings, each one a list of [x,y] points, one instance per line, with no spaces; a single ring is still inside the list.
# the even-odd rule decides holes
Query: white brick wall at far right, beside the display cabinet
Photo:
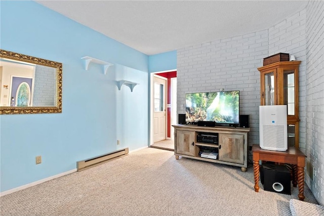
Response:
[[[314,167],[314,181],[306,183],[324,205],[324,2],[309,1],[306,8],[306,155]]]

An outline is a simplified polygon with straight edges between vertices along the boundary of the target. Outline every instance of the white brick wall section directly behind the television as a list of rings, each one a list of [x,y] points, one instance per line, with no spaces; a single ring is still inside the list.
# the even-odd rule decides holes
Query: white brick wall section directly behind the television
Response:
[[[240,114],[250,115],[250,143],[259,143],[260,73],[268,55],[268,30],[177,50],[177,109],[185,94],[239,90]]]

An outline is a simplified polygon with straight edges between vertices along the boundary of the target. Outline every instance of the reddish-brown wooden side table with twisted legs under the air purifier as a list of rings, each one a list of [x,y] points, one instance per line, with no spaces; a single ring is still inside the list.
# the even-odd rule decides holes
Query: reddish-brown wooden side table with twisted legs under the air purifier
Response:
[[[254,169],[254,190],[259,192],[259,160],[272,161],[278,163],[289,163],[293,165],[293,186],[298,184],[298,198],[304,200],[304,167],[306,155],[295,147],[289,147],[285,152],[263,150],[259,145],[253,145],[253,169]]]

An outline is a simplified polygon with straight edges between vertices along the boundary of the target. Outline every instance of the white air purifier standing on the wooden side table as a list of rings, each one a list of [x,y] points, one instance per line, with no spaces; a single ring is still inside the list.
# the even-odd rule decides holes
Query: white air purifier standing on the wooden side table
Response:
[[[259,106],[260,148],[273,151],[288,149],[287,105]]]

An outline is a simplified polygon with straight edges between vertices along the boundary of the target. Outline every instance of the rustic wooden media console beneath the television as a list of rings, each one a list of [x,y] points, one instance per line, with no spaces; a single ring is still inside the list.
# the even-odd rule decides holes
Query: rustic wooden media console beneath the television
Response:
[[[241,167],[247,171],[248,167],[248,133],[250,128],[235,128],[227,126],[202,127],[197,125],[173,125],[175,129],[175,156],[196,160],[222,163]],[[217,134],[218,144],[197,142],[197,135],[201,133]],[[200,157],[199,152],[204,147],[215,149],[218,159]]]

